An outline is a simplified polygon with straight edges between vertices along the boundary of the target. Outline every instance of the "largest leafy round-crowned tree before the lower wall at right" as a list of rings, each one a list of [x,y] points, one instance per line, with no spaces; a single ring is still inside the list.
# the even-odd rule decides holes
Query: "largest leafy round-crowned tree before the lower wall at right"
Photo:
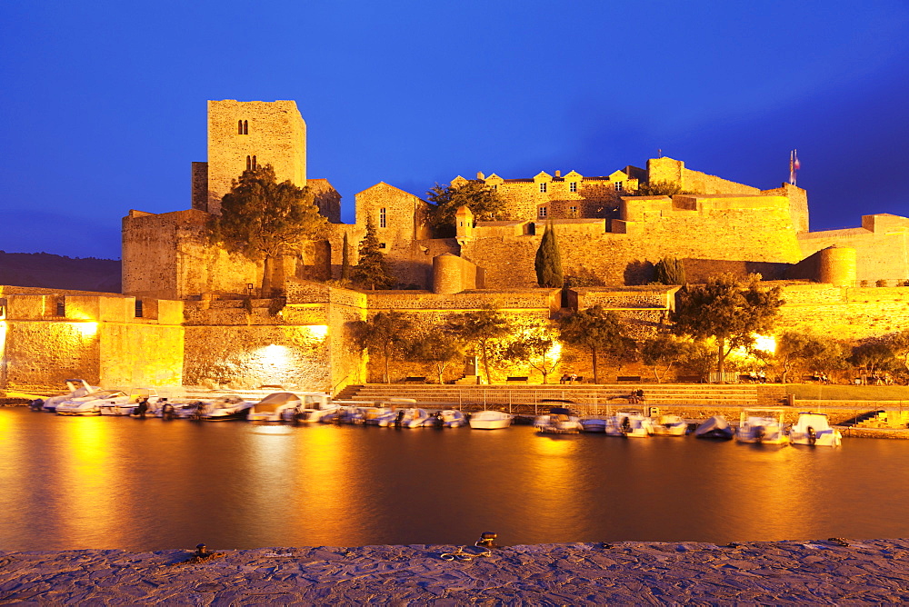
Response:
[[[751,274],[743,284],[733,274],[722,274],[679,291],[670,314],[673,332],[695,340],[716,340],[716,370],[723,382],[726,356],[754,343],[757,333],[770,333],[783,300],[780,287],[762,289],[760,275]]]

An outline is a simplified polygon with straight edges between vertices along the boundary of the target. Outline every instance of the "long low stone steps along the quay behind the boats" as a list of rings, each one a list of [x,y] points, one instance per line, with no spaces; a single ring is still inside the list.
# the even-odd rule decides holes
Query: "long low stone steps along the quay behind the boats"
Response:
[[[763,386],[762,386],[763,387]],[[758,406],[754,384],[530,384],[530,385],[438,385],[415,383],[369,383],[349,385],[335,396],[339,400],[382,402],[390,398],[413,398],[427,406],[464,406],[469,408],[536,405],[546,401],[572,401],[579,404],[622,405],[635,390],[643,390],[648,406],[695,405],[704,407]],[[764,403],[760,403],[764,404]],[[776,403],[774,403],[776,404]]]

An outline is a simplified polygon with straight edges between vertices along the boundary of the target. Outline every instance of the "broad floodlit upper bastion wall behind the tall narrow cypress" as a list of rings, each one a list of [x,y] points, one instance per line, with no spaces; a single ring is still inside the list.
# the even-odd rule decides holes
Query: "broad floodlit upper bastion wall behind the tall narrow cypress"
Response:
[[[677,197],[678,198],[678,197]],[[613,222],[618,232],[592,234],[593,225],[554,224],[566,274],[593,274],[604,284],[646,284],[653,264],[664,256],[751,264],[794,264],[802,253],[787,201],[779,196],[684,197],[680,208],[668,198],[625,199],[634,221]],[[589,230],[590,232],[587,232]],[[536,284],[534,256],[538,234],[485,237],[478,226],[464,240],[462,256],[484,268],[488,288]]]

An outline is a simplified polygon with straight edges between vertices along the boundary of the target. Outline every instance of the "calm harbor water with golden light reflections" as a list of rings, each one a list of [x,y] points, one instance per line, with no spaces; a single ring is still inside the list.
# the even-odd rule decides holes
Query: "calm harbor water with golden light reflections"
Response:
[[[200,423],[0,409],[0,548],[906,537],[909,441]]]

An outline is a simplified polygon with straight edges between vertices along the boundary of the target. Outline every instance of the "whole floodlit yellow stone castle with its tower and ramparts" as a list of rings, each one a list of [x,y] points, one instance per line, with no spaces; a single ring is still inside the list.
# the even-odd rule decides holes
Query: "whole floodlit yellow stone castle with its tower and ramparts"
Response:
[[[308,186],[328,220],[323,240],[274,264],[273,284],[284,285],[286,297],[277,311],[270,294],[257,292],[263,265],[205,237],[206,220],[219,213],[231,181],[260,164],[272,164],[279,181]],[[296,104],[225,100],[208,102],[208,160],[193,163],[191,174],[190,208],[131,210],[124,218],[122,295],[3,287],[0,386],[83,375],[105,384],[281,383],[335,393],[376,379],[347,323],[393,309],[428,327],[494,305],[519,326],[548,323],[567,299],[617,311],[640,336],[674,305],[675,287],[649,284],[664,256],[683,259],[694,283],[720,272],[782,281],[786,326],[864,339],[909,321],[909,219],[872,214],[861,227],[810,232],[803,189],[762,190],[672,158],[596,176],[478,173],[475,179],[504,200],[507,219],[477,222],[463,207],[454,237],[433,238],[429,204],[385,183],[356,194],[355,224],[341,223],[341,196],[326,179],[306,174],[306,124]],[[466,182],[457,176],[451,184]],[[634,195],[654,182],[690,194]],[[325,284],[340,273],[345,234],[355,253],[367,217],[407,290]],[[536,286],[534,254],[547,221],[565,273],[591,285],[567,298]],[[53,353],[36,345],[41,339],[55,344]],[[395,373],[425,375],[411,367],[399,363]]]

